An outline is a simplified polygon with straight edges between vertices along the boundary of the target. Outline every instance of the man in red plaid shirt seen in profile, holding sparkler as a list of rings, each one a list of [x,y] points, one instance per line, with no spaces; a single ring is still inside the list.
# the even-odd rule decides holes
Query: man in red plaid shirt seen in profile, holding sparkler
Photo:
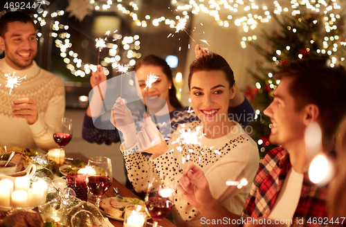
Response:
[[[299,60],[285,64],[275,75],[280,85],[264,114],[273,124],[269,140],[281,147],[262,160],[242,219],[224,209],[221,201],[212,199],[203,172],[193,165],[185,168],[179,190],[201,212],[201,221],[230,226],[259,223],[253,219],[266,219],[262,224],[270,224],[268,219],[272,219],[305,226],[316,224],[313,219],[318,217],[329,217],[327,186],[319,187],[307,176],[312,155],[304,141],[305,129],[317,122],[322,132],[322,150],[329,158],[334,154],[336,130],[346,113],[346,71],[343,66],[329,65],[326,59]]]

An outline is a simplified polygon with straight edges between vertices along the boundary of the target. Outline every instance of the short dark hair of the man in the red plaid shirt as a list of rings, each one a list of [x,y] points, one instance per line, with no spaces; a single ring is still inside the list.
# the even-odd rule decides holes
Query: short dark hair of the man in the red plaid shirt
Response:
[[[289,93],[295,111],[314,104],[320,111],[320,126],[327,138],[333,138],[346,113],[346,71],[340,64],[330,66],[325,58],[305,59],[282,66],[275,78],[292,78]]]

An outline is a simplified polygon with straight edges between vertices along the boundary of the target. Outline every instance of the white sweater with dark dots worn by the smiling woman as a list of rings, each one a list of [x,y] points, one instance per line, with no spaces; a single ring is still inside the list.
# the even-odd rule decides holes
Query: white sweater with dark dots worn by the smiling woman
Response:
[[[201,122],[186,123],[184,130],[194,130],[198,125],[201,125]],[[248,182],[253,181],[260,159],[255,141],[237,123],[226,136],[216,139],[201,136],[201,145],[182,145],[174,143],[180,136],[179,129],[181,125],[171,135],[168,151],[157,158],[150,158],[149,161],[139,152],[137,145],[125,151],[120,147],[125,157],[129,180],[136,191],[147,190],[154,170],[163,182],[177,181],[181,178],[185,165],[192,161],[201,167],[206,175],[212,197],[230,212],[240,215],[251,183],[239,190],[236,186],[226,185],[226,181],[240,181],[243,178]],[[180,192],[174,198],[174,205],[172,213],[176,226],[202,226],[199,211],[190,206]]]

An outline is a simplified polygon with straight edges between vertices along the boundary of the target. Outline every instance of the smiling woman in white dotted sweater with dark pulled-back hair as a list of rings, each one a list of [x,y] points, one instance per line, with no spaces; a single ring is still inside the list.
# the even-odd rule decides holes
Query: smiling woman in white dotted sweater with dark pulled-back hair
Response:
[[[255,141],[238,122],[228,118],[228,102],[235,96],[233,71],[223,57],[208,53],[197,57],[190,66],[190,98],[201,121],[179,125],[170,140],[161,142],[156,125],[146,118],[136,138],[131,114],[121,99],[113,107],[112,122],[124,134],[122,154],[129,180],[138,192],[145,192],[154,172],[163,183],[181,178],[185,165],[193,162],[201,167],[212,197],[235,214],[241,214],[251,184],[242,189],[226,185],[226,181],[253,181],[259,164]],[[125,124],[124,124],[125,123]],[[198,143],[181,143],[183,131],[197,133]],[[154,146],[152,145],[154,141]],[[152,153],[149,161],[142,152]],[[172,210],[176,226],[202,226],[199,211],[190,206],[179,191]]]

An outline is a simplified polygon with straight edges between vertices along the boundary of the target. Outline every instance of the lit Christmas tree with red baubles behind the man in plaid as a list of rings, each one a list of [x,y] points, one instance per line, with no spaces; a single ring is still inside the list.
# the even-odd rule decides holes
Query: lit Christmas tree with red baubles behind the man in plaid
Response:
[[[323,7],[321,7],[323,6]],[[316,10],[318,9],[318,10]],[[255,109],[252,138],[257,142],[260,157],[277,147],[272,145],[268,136],[271,133],[271,120],[263,111],[273,100],[272,93],[280,80],[273,75],[283,64],[301,58],[325,57],[330,59],[330,66],[343,64],[345,60],[345,22],[344,15],[338,13],[340,6],[335,0],[325,5],[296,6],[293,12],[273,15],[279,29],[272,34],[263,31],[263,37],[271,48],[263,48],[255,41],[250,43],[267,62],[259,62],[257,71],[248,70],[255,78],[255,87],[247,87],[245,95]]]

